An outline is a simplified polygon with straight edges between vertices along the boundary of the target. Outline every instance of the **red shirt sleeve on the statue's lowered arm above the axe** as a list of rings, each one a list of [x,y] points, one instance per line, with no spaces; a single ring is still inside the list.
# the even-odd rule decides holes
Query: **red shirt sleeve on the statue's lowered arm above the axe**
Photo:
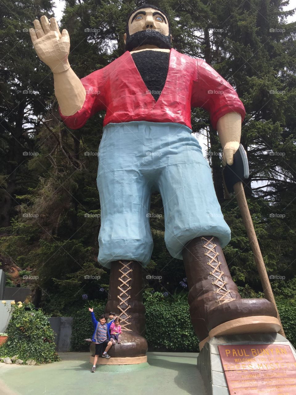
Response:
[[[202,107],[210,113],[211,124],[223,115],[236,112],[245,118],[245,107],[232,86],[202,59],[197,59],[197,78],[193,81],[191,107]]]

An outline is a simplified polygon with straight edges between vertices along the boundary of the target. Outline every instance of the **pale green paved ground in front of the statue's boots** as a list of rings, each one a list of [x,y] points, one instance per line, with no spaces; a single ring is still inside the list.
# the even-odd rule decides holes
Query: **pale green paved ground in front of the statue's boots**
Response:
[[[59,353],[39,366],[0,363],[1,395],[205,395],[195,353],[148,352],[141,365],[97,366],[89,353]]]

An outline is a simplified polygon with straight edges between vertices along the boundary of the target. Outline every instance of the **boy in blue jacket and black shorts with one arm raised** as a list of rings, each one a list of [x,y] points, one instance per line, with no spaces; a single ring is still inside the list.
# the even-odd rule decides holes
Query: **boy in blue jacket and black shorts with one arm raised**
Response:
[[[112,342],[110,341],[110,327],[114,320],[106,324],[106,316],[105,314],[101,314],[99,321],[97,321],[94,315],[94,308],[89,307],[88,310],[92,313],[92,323],[94,324],[95,328],[94,334],[92,335],[92,341],[96,344],[96,353],[94,365],[91,370],[91,372],[94,373],[96,371],[96,363],[99,355],[101,355],[103,358],[110,358],[110,355],[107,354],[107,351],[112,346]],[[103,350],[105,351],[103,352]]]

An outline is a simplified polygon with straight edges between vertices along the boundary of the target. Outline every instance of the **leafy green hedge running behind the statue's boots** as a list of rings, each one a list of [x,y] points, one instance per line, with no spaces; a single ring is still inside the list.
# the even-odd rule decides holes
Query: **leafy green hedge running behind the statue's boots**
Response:
[[[241,291],[241,290],[240,290]],[[241,292],[242,293],[242,292]],[[248,295],[242,295],[247,297]],[[255,294],[252,295],[255,297]],[[262,294],[260,294],[262,296]],[[198,352],[198,343],[189,315],[185,293],[164,296],[163,293],[145,290],[146,339],[149,350],[176,352]],[[83,340],[92,337],[94,328],[88,306],[77,312],[73,320],[72,350],[87,351],[88,344]],[[96,317],[104,312],[104,303],[95,303]],[[292,299],[277,298],[277,307],[287,339],[296,345],[296,303]]]

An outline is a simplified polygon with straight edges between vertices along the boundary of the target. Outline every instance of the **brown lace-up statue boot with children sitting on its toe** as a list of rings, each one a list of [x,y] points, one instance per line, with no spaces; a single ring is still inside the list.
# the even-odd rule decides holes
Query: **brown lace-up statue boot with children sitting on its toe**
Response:
[[[112,346],[111,357],[139,357],[146,355],[145,307],[142,302],[142,265],[137,261],[111,263],[108,302],[105,312],[114,311],[120,318],[120,343]]]

